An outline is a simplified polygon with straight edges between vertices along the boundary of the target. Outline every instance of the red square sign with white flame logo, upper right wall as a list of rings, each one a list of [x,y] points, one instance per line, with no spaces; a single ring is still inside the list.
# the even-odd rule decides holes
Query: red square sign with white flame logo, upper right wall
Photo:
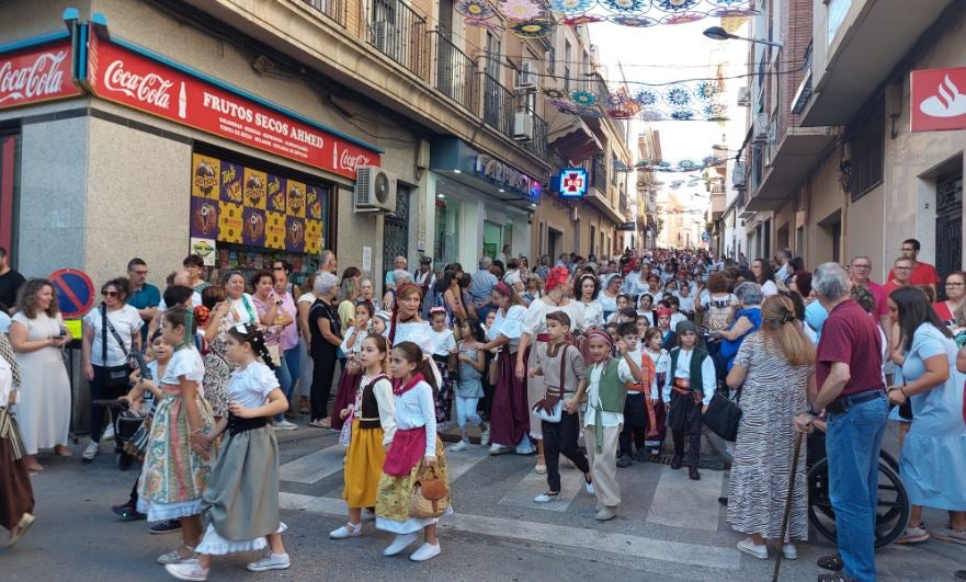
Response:
[[[966,129],[966,67],[912,71],[912,132]]]

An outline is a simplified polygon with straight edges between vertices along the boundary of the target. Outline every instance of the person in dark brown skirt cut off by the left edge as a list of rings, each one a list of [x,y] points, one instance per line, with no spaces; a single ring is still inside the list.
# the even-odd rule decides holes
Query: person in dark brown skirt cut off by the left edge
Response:
[[[34,523],[34,490],[23,461],[24,446],[10,407],[16,403],[20,366],[7,335],[0,333],[0,525],[10,532],[7,547]]]

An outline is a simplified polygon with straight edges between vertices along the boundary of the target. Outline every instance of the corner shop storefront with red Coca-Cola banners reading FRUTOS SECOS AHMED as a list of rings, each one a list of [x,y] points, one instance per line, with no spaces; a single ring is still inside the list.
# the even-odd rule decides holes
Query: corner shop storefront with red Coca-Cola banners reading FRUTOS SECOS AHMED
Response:
[[[304,83],[257,84],[254,71],[237,72],[241,54],[223,52],[205,72],[183,64],[182,45],[155,50],[103,24],[70,27],[0,46],[0,244],[19,269],[71,266],[103,281],[137,255],[162,277],[195,252],[213,279],[284,259],[302,282],[323,249],[382,269],[383,215],[355,213],[352,190],[361,167],[387,163],[416,182],[400,163],[411,151],[386,159],[319,123],[332,114],[299,105]],[[216,42],[191,34],[198,50]]]

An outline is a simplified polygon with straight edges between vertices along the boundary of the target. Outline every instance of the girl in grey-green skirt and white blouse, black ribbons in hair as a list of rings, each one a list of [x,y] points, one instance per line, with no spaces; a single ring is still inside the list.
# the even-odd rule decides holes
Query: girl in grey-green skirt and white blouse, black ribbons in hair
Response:
[[[197,559],[164,567],[179,580],[206,580],[212,556],[262,550],[266,546],[270,551],[249,563],[248,570],[264,572],[291,566],[282,545],[285,524],[279,516],[279,443],[271,426],[275,414],[288,410],[288,400],[272,372],[272,356],[255,324],[232,327],[227,340],[228,360],[237,366],[228,380],[229,414],[200,435],[200,448],[211,450],[226,429],[228,436],[204,493],[202,509],[208,525],[195,548]]]

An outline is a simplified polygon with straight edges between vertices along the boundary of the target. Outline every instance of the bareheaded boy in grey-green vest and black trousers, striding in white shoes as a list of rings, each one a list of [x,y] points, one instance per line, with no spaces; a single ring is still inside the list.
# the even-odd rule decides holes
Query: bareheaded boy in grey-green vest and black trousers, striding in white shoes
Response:
[[[536,365],[530,370],[531,376],[543,376],[547,393],[536,407],[553,412],[557,402],[562,401],[560,422],[542,420],[544,435],[544,459],[547,464],[547,492],[534,498],[535,503],[549,503],[560,497],[560,455],[573,461],[583,472],[583,480],[589,493],[591,486],[590,464],[577,445],[580,436],[580,418],[577,414],[578,395],[587,386],[587,367],[580,350],[567,342],[570,333],[570,316],[564,311],[547,313],[547,342],[537,342]]]

